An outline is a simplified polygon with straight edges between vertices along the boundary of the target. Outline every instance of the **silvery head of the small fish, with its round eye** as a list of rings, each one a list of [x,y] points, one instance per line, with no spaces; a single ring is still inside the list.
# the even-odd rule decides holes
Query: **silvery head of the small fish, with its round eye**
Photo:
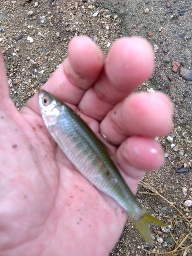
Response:
[[[52,94],[42,89],[38,91],[38,103],[47,128],[57,123],[62,110],[62,103]]]

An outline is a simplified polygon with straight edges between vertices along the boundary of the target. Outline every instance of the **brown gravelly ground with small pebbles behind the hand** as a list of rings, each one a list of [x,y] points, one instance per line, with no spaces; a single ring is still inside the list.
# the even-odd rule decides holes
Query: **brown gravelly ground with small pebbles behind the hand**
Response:
[[[175,124],[171,134],[157,138],[165,152],[165,163],[155,173],[145,175],[137,197],[168,226],[151,226],[154,244],[150,247],[127,221],[111,256],[168,255],[163,252],[169,251],[174,251],[170,255],[192,255],[192,207],[184,204],[192,200],[192,81],[185,79],[186,74],[185,78],[180,75],[181,68],[187,68],[190,80],[191,20],[191,0],[0,3],[0,46],[10,94],[18,109],[61,64],[67,56],[69,40],[75,35],[90,36],[105,54],[123,35],[145,37],[154,48],[155,72],[139,90],[167,94],[175,105]],[[180,64],[176,73],[172,71],[172,61]]]

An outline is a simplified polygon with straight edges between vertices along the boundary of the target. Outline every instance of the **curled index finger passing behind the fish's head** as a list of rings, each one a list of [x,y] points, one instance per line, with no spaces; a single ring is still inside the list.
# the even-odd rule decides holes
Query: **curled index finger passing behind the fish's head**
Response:
[[[69,43],[68,55],[42,88],[63,101],[78,104],[85,90],[98,79],[104,55],[87,36],[74,37]],[[36,97],[32,97],[27,106],[39,113]]]

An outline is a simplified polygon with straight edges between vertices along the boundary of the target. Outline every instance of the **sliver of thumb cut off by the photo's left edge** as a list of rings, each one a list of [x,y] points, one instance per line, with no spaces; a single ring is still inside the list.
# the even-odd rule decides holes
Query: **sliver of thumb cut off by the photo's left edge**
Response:
[[[9,85],[7,82],[7,74],[5,69],[5,63],[3,60],[3,54],[0,49],[0,102],[2,103],[4,100],[9,98]]]

